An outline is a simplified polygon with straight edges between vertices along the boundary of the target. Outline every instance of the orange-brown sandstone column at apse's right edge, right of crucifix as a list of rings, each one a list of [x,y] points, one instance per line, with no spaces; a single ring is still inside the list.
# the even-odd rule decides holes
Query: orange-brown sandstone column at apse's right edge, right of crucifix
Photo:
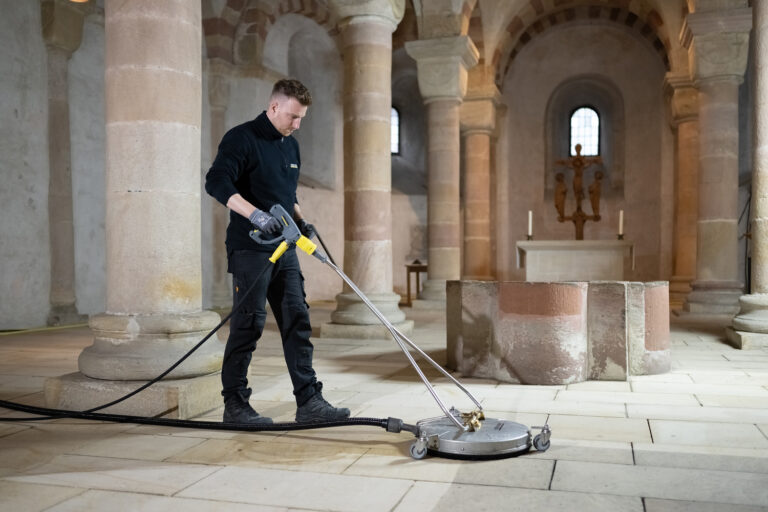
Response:
[[[675,131],[674,269],[670,305],[680,308],[696,276],[696,228],[699,215],[699,102],[690,78],[668,74],[666,87]]]

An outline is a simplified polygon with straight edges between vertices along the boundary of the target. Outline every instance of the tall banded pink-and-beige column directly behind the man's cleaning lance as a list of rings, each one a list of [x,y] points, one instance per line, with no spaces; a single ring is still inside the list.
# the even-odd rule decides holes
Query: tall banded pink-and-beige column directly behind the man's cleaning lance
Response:
[[[392,32],[400,2],[333,2],[344,56],[344,270],[387,319],[403,331],[413,322],[392,284]],[[347,286],[336,297],[323,337],[379,338],[389,331]]]

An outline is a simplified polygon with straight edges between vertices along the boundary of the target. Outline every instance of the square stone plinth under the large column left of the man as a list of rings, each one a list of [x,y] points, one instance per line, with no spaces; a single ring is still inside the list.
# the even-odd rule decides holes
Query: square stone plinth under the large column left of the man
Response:
[[[91,379],[69,373],[45,381],[45,404],[55,409],[85,411],[127,395],[146,381]],[[219,372],[191,379],[160,381],[125,402],[102,411],[112,414],[189,419],[223,405]]]

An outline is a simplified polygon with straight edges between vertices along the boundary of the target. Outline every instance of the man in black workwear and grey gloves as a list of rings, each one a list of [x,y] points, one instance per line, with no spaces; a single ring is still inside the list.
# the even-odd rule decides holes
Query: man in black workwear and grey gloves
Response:
[[[302,234],[314,235],[314,227],[303,219],[296,201],[301,160],[298,143],[291,136],[299,129],[311,103],[312,97],[301,82],[279,80],[272,89],[267,110],[224,135],[206,175],[205,190],[230,209],[226,246],[234,304],[240,302],[259,273],[270,266],[230,321],[221,368],[225,422],[272,423],[248,403],[248,365],[264,329],[267,300],[283,340],[283,354],[296,397],[296,421],[349,417],[349,409],[333,407],[323,399],[322,383],[312,368],[309,306],[304,301],[304,277],[295,247],[272,264],[268,259],[277,244],[260,245],[248,235],[254,227],[267,237],[279,234],[282,225],[268,213],[276,203],[293,212]]]

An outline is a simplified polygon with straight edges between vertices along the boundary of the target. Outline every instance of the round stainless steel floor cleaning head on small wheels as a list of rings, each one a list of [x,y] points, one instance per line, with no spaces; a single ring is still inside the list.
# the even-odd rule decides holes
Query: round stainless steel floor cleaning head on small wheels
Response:
[[[514,421],[486,418],[474,432],[459,430],[447,417],[421,421],[418,427],[419,439],[411,447],[414,458],[429,453],[453,459],[501,459],[531,447],[530,430]]]

